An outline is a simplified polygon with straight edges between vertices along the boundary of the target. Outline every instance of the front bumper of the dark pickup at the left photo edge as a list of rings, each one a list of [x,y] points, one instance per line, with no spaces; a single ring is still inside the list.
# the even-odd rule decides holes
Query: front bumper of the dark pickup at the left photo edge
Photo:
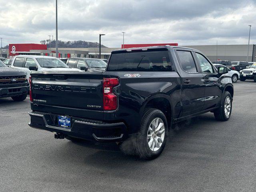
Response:
[[[29,83],[20,86],[0,87],[0,98],[18,96],[29,91]]]

